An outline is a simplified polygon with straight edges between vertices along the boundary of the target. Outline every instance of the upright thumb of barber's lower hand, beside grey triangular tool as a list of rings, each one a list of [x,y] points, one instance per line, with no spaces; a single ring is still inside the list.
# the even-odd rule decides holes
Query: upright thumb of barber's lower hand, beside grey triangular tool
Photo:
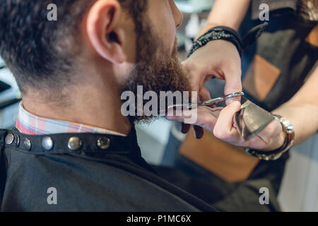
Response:
[[[232,102],[232,104],[225,107],[216,121],[216,126],[214,126],[214,136],[217,138],[227,141],[230,139],[233,128],[233,118],[236,112],[240,110],[240,102]]]

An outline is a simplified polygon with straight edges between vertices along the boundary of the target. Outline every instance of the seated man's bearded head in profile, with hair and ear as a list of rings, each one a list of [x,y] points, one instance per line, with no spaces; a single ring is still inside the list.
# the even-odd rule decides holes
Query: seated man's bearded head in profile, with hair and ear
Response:
[[[56,21],[47,19],[49,4]],[[177,59],[180,23],[173,0],[3,0],[0,54],[24,96],[41,91],[55,102],[78,85],[118,100],[137,85],[190,90]]]

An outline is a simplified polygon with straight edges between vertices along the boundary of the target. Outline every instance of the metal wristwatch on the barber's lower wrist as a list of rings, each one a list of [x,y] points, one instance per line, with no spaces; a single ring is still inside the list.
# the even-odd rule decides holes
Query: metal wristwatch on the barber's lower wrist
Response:
[[[281,148],[278,148],[277,150],[273,151],[261,151],[261,150],[253,150],[250,148],[245,148],[245,151],[249,153],[250,155],[253,155],[254,157],[259,158],[260,160],[278,160],[278,158],[283,155],[287,150],[289,150],[294,143],[295,139],[295,131],[294,126],[290,124],[290,121],[285,119],[284,117],[281,117],[280,115],[274,115],[274,117],[281,122],[281,125],[283,126],[283,130],[286,134],[285,141]]]

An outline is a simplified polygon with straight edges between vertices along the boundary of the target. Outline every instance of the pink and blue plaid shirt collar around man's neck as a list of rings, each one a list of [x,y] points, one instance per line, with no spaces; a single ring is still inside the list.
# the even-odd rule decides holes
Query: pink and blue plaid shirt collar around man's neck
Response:
[[[122,133],[94,126],[37,117],[24,109],[23,102],[20,102],[19,105],[16,129],[18,129],[20,133],[28,135],[46,135],[55,133],[102,133],[114,136],[125,136]]]

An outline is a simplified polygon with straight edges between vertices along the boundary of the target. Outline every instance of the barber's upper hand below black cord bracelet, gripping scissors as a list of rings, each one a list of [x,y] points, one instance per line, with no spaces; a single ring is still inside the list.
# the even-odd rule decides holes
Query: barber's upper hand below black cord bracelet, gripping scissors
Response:
[[[206,81],[211,78],[225,80],[224,95],[242,91],[240,54],[231,42],[225,40],[208,42],[204,47],[197,49],[182,64],[189,74],[194,90],[199,92],[201,101],[211,99],[210,93],[205,87]],[[231,99],[227,100],[227,105],[233,100],[240,100],[240,97]],[[189,125],[182,124],[182,133],[187,133],[189,128]],[[204,135],[203,129],[199,126],[195,126],[194,129],[196,138],[201,138]]]

